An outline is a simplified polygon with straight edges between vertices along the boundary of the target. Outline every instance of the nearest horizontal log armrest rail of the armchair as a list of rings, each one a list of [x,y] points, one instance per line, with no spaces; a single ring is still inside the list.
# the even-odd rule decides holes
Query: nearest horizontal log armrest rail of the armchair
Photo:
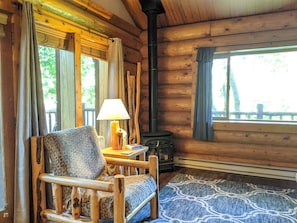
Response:
[[[81,187],[107,192],[113,192],[114,188],[113,182],[91,180],[79,177],[54,176],[47,173],[40,174],[39,179],[47,183],[55,183],[62,186]]]

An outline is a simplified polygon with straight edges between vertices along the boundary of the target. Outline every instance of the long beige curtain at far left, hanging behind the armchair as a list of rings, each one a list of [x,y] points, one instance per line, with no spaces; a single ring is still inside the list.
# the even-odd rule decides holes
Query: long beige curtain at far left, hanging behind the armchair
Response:
[[[23,3],[15,147],[14,222],[30,223],[30,137],[47,133],[33,6]]]

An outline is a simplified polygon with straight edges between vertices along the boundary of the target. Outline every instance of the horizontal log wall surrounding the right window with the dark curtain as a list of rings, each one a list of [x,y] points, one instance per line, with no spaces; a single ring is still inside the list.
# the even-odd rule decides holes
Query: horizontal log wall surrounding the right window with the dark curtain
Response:
[[[297,11],[204,22],[158,30],[159,130],[174,133],[181,157],[297,168],[297,125],[214,123],[214,142],[192,139],[196,48],[217,51],[296,45]],[[148,131],[147,32],[142,62],[141,129]]]

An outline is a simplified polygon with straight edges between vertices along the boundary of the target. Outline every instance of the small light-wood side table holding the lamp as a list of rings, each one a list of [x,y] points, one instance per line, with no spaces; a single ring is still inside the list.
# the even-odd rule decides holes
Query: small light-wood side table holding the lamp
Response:
[[[145,161],[146,157],[145,154],[148,151],[148,146],[143,146],[141,149],[121,149],[121,150],[114,150],[112,147],[103,148],[101,151],[105,157],[113,157],[113,158],[121,158],[121,159],[136,159],[139,157],[139,160]],[[117,170],[116,172],[120,172]],[[135,169],[131,170],[132,174],[136,174],[137,171]],[[139,173],[143,174],[144,170],[140,169]],[[128,174],[128,170],[124,168],[124,174]]]

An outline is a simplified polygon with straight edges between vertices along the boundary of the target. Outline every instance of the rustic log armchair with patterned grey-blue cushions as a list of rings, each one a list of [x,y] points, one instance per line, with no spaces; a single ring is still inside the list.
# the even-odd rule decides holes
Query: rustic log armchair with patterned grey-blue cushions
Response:
[[[77,127],[31,138],[34,222],[128,222],[150,203],[151,218],[159,214],[158,159],[148,161],[105,158],[96,130]],[[44,153],[52,172],[44,172]],[[145,174],[110,175],[107,164],[148,169]],[[110,166],[109,165],[109,166]],[[129,172],[129,171],[123,171]],[[130,171],[135,172],[135,171]],[[54,208],[46,205],[51,185]]]

